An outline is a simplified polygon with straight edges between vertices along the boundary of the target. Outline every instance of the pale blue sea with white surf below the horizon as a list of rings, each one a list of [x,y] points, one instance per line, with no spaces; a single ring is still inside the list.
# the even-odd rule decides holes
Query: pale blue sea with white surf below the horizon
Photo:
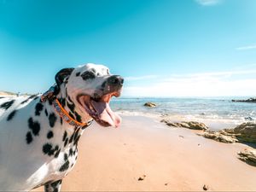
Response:
[[[236,122],[255,121],[256,103],[231,102],[248,97],[213,98],[113,98],[113,111],[153,115],[180,115],[189,119],[222,119]],[[147,108],[145,102],[154,102],[156,108]]]

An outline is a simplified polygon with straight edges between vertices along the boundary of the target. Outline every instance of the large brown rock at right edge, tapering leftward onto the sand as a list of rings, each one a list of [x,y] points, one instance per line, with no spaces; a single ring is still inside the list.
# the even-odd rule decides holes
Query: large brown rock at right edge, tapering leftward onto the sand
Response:
[[[234,129],[206,131],[198,135],[222,143],[256,143],[256,124],[247,122],[236,126]]]

